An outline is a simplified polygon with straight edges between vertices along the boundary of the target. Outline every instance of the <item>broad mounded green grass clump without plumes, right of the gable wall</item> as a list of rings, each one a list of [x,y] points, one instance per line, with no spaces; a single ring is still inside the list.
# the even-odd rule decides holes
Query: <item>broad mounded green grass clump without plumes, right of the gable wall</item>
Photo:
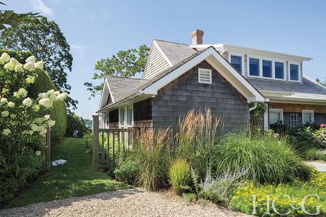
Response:
[[[219,146],[217,173],[246,170],[257,183],[283,183],[307,178],[310,169],[288,139],[232,133]]]

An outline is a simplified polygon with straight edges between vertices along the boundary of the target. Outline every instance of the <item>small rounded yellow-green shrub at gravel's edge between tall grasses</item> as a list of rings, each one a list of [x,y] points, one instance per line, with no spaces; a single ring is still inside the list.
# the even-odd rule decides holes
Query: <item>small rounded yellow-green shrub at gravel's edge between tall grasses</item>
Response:
[[[182,187],[190,183],[190,166],[184,159],[173,161],[169,170],[170,183],[175,194],[182,194]]]

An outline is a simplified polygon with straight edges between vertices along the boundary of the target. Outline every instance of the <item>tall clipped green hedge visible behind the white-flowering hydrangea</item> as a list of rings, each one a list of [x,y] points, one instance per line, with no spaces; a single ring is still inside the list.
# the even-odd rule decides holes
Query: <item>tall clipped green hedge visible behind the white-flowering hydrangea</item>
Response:
[[[0,49],[0,54],[3,52],[6,52],[9,54],[9,56],[16,58],[19,62],[25,62],[29,56],[33,55],[31,52]],[[50,78],[43,71],[42,73],[39,73],[39,76],[35,79],[32,87],[28,89],[28,93],[30,97],[36,98],[38,93],[46,92],[50,89],[57,90]],[[52,126],[51,139],[52,141],[58,141],[65,137],[65,131],[67,129],[67,109],[65,102],[55,102],[50,112],[50,117],[56,121],[56,124]]]

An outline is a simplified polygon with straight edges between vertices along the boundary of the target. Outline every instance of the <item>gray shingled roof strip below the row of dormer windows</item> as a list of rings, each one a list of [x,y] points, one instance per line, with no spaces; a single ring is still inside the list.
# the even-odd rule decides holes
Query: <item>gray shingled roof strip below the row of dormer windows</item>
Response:
[[[321,87],[311,78],[304,76],[303,83],[265,80],[259,78],[246,78],[252,86],[261,91],[285,91],[290,93],[325,94],[326,89]]]

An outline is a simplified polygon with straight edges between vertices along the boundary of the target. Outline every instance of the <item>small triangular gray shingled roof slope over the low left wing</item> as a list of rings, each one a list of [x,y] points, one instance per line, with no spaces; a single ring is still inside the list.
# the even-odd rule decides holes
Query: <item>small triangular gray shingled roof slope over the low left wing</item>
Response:
[[[114,102],[125,98],[131,93],[135,92],[142,84],[148,80],[139,78],[122,78],[116,76],[107,76],[107,82],[110,87],[112,98]]]

